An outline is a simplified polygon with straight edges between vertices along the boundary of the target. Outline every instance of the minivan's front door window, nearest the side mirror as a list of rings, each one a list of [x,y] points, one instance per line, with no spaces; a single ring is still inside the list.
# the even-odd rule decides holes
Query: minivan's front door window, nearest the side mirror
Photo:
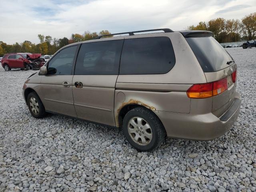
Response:
[[[72,71],[74,56],[77,46],[71,46],[58,52],[48,64],[50,68],[56,69],[56,75],[70,75]]]

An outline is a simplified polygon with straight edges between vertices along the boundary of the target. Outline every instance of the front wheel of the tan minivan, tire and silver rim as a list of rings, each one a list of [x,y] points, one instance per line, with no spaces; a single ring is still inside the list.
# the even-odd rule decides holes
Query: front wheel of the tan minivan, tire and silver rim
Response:
[[[33,104],[30,99],[35,99],[36,104]],[[43,118],[46,115],[44,105],[36,92],[31,92],[30,94],[28,94],[27,104],[28,109],[34,118]]]

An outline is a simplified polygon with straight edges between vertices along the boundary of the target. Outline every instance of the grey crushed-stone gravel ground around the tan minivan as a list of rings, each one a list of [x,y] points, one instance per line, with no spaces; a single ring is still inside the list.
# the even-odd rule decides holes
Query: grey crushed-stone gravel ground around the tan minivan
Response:
[[[237,122],[207,142],[167,139],[138,152],[122,132],[72,118],[35,119],[22,99],[34,71],[0,69],[0,192],[256,191],[256,49],[228,48],[242,96]]]

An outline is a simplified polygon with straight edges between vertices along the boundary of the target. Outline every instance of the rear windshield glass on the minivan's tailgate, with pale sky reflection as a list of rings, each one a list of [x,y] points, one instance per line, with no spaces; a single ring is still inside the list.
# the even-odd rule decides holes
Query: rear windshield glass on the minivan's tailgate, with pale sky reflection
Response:
[[[232,57],[213,37],[186,38],[204,72],[227,68]]]

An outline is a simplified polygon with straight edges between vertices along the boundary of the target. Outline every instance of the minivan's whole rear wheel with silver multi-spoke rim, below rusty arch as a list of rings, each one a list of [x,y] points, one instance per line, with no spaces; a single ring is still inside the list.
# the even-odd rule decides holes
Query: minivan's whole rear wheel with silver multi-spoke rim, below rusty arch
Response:
[[[143,107],[134,108],[124,116],[122,129],[128,142],[139,151],[153,150],[165,138],[165,130],[158,117]]]

